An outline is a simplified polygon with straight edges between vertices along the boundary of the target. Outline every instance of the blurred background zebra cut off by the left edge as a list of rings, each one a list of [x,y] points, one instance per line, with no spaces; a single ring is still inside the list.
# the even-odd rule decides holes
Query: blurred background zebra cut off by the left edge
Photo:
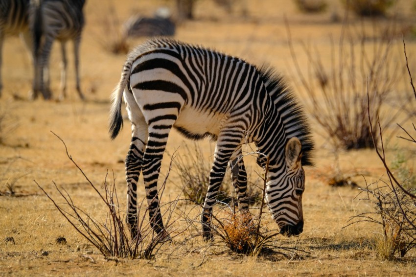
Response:
[[[4,37],[23,34],[26,45],[31,48],[32,36],[29,32],[30,0],[0,0],[0,96],[2,89],[1,63]]]

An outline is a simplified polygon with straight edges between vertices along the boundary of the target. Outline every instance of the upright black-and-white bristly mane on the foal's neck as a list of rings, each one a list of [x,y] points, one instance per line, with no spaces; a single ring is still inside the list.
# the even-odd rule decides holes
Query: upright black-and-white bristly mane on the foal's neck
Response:
[[[302,165],[313,166],[312,150],[314,149],[314,143],[311,135],[311,127],[307,122],[307,116],[300,106],[297,97],[276,69],[263,65],[257,68],[257,70],[263,78],[267,92],[269,92],[270,97],[276,105],[286,132],[290,129],[290,134],[287,139],[297,137],[302,144]]]

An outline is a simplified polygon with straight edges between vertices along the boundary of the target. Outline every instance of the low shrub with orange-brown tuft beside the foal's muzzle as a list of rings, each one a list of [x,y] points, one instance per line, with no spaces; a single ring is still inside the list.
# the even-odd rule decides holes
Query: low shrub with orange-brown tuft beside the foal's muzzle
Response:
[[[249,155],[259,153],[250,153]],[[268,166],[268,159],[267,159]],[[180,211],[179,214],[186,222],[184,241],[178,246],[187,253],[206,253],[222,254],[227,252],[245,254],[257,257],[259,255],[282,254],[285,257],[297,256],[299,252],[305,252],[296,247],[283,246],[281,240],[277,238],[280,234],[278,229],[269,229],[263,224],[263,219],[270,214],[264,211],[266,172],[262,173],[261,179],[261,205],[249,210],[236,209],[234,205],[224,202],[215,205],[211,217],[211,234],[210,241],[201,241],[203,232],[201,229],[201,210],[202,205],[186,206],[186,210]],[[189,201],[189,200],[187,200]],[[192,201],[190,201],[193,203]],[[184,206],[179,206],[178,209]],[[273,224],[275,227],[276,225]],[[225,249],[225,251],[224,251]],[[273,257],[275,259],[275,257]],[[202,263],[204,263],[205,257]]]

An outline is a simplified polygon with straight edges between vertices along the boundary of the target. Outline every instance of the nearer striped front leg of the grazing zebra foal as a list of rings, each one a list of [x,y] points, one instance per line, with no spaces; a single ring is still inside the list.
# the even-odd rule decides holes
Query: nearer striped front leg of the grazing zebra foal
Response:
[[[234,129],[225,128],[221,131],[215,148],[214,162],[209,173],[209,185],[201,214],[202,231],[204,239],[206,240],[212,238],[212,234],[210,232],[212,207],[216,202],[215,198],[224,179],[227,164],[230,161],[235,149],[237,149],[243,139],[242,130],[236,129],[235,126],[233,128]]]

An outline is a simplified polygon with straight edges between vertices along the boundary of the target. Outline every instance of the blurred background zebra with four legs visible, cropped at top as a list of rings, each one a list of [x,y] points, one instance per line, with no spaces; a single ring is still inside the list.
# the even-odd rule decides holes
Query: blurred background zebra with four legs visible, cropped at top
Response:
[[[39,92],[45,99],[51,98],[49,89],[49,56],[55,39],[61,43],[61,96],[66,97],[67,90],[67,53],[66,43],[72,40],[74,47],[76,90],[84,99],[79,80],[79,44],[84,27],[83,7],[85,0],[40,0],[36,7],[33,22],[35,77],[33,80],[33,98]],[[46,74],[46,76],[44,76]],[[47,81],[45,81],[47,79]]]

